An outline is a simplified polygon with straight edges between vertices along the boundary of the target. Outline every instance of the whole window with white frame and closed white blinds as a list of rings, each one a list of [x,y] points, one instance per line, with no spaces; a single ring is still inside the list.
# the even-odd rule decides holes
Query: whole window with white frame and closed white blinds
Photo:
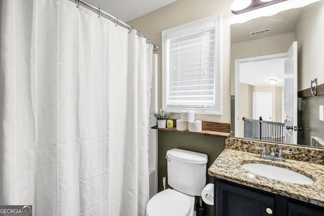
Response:
[[[162,32],[163,106],[221,114],[220,15]]]

